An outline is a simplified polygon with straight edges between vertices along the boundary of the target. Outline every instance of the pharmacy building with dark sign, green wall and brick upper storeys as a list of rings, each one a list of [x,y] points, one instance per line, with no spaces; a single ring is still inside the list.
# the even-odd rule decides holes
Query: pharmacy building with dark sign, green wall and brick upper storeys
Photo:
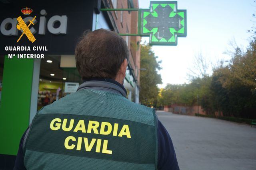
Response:
[[[30,15],[22,14],[26,7],[32,10]],[[100,8],[138,8],[138,0],[0,1],[0,168],[12,168],[20,138],[36,112],[75,92],[82,83],[74,48],[84,31],[104,28],[137,33],[138,12],[101,12]],[[22,35],[19,16],[26,25],[36,16],[29,27],[36,39],[33,43],[25,35],[17,42]],[[130,51],[124,86],[127,98],[138,103],[140,37],[123,38]],[[18,46],[31,50],[14,50]],[[33,47],[44,49],[34,51]],[[10,59],[10,54],[16,56]],[[18,54],[39,54],[44,59],[17,59]]]

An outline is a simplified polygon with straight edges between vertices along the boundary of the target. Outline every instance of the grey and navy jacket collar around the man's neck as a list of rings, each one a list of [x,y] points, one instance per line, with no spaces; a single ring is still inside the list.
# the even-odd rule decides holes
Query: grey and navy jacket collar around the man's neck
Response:
[[[84,83],[80,84],[78,90],[94,89],[121,94],[126,98],[126,89],[124,86],[111,78],[90,78],[85,79]]]

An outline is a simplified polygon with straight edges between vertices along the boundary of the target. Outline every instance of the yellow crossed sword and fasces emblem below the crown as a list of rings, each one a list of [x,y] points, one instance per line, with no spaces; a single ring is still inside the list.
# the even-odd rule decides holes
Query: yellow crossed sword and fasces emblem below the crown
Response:
[[[17,29],[20,30],[22,29],[23,30],[23,33],[22,35],[20,35],[20,38],[17,40],[17,43],[20,41],[21,37],[25,34],[27,37],[28,37],[28,40],[31,41],[32,43],[34,43],[34,41],[36,41],[36,38],[34,37],[34,35],[31,33],[31,31],[29,30],[29,26],[32,24],[32,25],[35,25],[33,23],[33,21],[36,19],[36,16],[33,18],[32,21],[28,20],[30,23],[28,25],[26,25],[26,23],[22,20],[22,18],[19,16],[17,18],[18,20],[18,24],[17,24]]]

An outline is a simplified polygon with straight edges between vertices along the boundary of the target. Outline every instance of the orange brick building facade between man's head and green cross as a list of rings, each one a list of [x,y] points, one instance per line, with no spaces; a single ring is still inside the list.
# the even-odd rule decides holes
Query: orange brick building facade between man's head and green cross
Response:
[[[104,1],[105,5],[108,1]],[[111,0],[107,8],[138,8],[138,0]],[[105,6],[106,7],[106,6]],[[108,12],[118,33],[138,32],[138,12],[112,11]],[[140,37],[123,36],[130,50],[128,59],[127,76],[124,86],[128,89],[128,99],[139,103],[139,82],[140,82]]]

